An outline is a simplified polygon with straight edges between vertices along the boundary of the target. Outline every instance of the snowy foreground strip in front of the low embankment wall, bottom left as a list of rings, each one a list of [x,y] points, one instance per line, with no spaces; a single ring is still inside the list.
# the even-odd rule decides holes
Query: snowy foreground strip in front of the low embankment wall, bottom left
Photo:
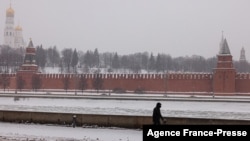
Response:
[[[1,141],[141,141],[142,131],[0,122]]]

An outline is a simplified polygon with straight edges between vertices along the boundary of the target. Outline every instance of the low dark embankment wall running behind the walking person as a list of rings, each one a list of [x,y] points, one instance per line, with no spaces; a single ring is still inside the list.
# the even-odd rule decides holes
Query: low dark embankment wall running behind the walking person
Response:
[[[74,113],[48,113],[29,111],[0,111],[0,121],[16,123],[58,124],[71,126],[72,116],[77,116],[77,126],[103,126],[122,128],[142,128],[152,124],[150,116],[94,115]],[[169,125],[250,125],[250,120],[204,119],[167,117]]]

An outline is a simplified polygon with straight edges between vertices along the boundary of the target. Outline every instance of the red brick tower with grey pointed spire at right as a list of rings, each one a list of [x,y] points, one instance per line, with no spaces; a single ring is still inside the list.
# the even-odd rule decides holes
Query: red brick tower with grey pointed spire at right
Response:
[[[220,50],[217,55],[217,67],[214,69],[213,91],[214,93],[234,93],[235,92],[236,70],[233,66],[233,57],[226,38],[220,42]]]

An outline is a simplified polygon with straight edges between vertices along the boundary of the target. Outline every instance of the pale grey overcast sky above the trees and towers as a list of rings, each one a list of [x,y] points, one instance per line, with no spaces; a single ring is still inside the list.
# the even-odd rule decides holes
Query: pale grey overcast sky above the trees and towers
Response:
[[[250,0],[12,0],[26,42],[58,49],[153,52],[173,57],[219,52],[250,57]],[[0,0],[0,44],[10,0]]]

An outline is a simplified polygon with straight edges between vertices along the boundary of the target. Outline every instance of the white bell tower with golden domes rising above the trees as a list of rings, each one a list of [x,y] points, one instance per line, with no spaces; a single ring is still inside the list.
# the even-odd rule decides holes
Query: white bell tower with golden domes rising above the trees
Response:
[[[4,28],[4,45],[10,46],[12,48],[25,47],[23,40],[22,27],[17,25],[14,27],[14,16],[15,11],[10,7],[6,10],[6,21]]]

